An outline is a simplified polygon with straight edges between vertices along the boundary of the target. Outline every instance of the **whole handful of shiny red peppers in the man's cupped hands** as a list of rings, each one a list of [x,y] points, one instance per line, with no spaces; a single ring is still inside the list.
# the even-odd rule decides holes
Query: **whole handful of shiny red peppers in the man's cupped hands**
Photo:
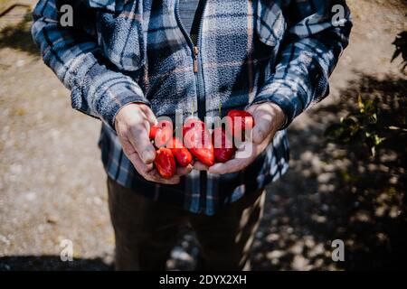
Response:
[[[241,121],[241,124],[237,124]],[[233,137],[239,135],[244,141],[246,127],[253,127],[254,119],[245,110],[233,109],[226,118],[226,127],[216,126],[211,134],[203,121],[188,118],[182,127],[184,142],[173,136],[173,124],[160,121],[150,129],[149,137],[156,146],[156,170],[163,178],[175,175],[176,164],[186,167],[194,159],[205,165],[225,163],[232,159],[236,151]],[[240,131],[236,127],[241,128]]]

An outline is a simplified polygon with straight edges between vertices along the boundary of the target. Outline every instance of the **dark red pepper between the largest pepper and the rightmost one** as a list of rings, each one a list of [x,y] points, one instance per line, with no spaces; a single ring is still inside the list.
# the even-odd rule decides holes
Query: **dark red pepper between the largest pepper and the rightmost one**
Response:
[[[213,154],[216,163],[225,163],[232,159],[235,152],[235,147],[226,134],[226,130],[222,126],[217,126],[213,129],[212,133]]]

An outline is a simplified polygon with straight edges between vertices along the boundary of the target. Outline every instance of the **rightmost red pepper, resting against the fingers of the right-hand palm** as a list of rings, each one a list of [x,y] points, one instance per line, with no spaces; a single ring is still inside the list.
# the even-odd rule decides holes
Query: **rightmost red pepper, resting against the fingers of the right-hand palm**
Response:
[[[238,123],[240,121],[240,123]],[[241,136],[244,141],[247,128],[254,126],[254,118],[246,110],[232,109],[227,114],[226,130],[233,137]],[[240,134],[239,134],[240,133]]]

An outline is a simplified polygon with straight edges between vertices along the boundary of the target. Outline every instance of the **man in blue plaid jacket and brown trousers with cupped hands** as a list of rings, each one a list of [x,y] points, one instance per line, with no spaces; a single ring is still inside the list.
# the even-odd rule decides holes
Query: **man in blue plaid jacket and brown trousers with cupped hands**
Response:
[[[61,23],[66,4],[72,26]],[[103,122],[117,269],[164,269],[183,223],[200,268],[249,269],[264,187],[287,170],[285,129],[327,96],[347,45],[345,0],[41,0],[33,18],[72,107]],[[251,154],[160,177],[148,139],[156,117],[204,120],[220,106],[253,115]]]

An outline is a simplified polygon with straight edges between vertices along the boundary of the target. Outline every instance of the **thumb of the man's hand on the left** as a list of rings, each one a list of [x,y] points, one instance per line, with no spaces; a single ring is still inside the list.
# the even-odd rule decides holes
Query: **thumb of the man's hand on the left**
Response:
[[[156,159],[156,149],[151,144],[145,126],[137,125],[131,130],[129,141],[133,144],[141,160],[146,163],[153,163]]]

